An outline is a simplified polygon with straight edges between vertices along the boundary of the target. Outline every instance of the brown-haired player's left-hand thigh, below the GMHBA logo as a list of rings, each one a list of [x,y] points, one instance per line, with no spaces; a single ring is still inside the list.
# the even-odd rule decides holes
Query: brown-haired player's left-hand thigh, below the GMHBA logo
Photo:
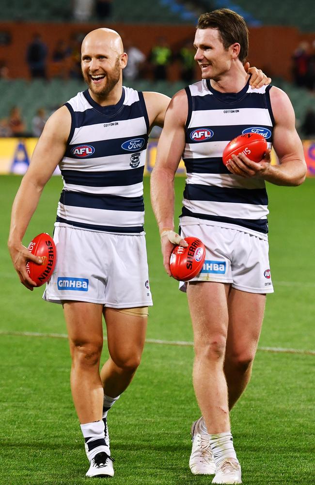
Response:
[[[225,340],[229,286],[215,282],[189,282],[187,297],[195,345],[202,345],[209,339]]]

